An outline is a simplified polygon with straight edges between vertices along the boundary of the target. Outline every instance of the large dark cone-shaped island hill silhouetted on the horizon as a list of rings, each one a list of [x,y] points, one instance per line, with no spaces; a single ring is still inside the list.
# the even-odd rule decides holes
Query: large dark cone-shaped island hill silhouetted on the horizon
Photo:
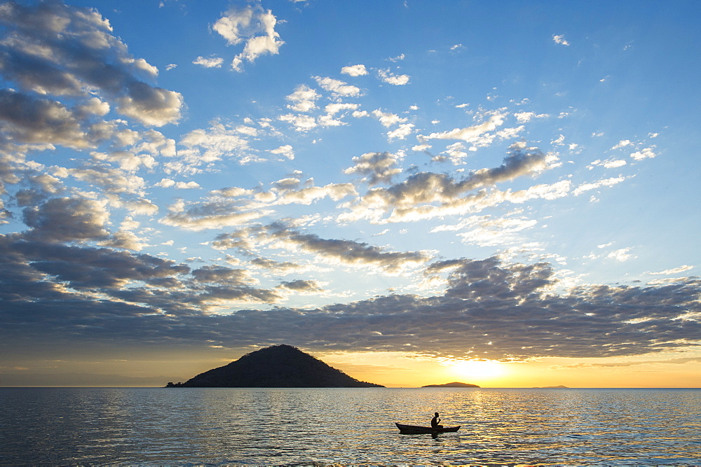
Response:
[[[245,354],[229,365],[166,387],[364,388],[384,387],[358,381],[290,345],[273,345]]]

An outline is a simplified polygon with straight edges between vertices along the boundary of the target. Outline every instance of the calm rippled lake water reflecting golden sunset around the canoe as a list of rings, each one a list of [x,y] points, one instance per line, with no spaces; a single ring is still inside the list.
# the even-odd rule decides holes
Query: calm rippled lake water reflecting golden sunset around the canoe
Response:
[[[436,410],[457,433],[400,435]],[[701,463],[695,389],[0,389],[0,463]]]

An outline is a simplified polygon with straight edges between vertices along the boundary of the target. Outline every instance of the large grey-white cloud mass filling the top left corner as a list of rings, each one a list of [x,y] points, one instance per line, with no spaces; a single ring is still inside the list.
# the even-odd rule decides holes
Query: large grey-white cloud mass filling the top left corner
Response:
[[[156,78],[158,70],[129,55],[125,44],[111,34],[109,21],[96,11],[58,1],[36,6],[8,1],[0,9],[0,24],[5,26],[4,36],[11,37],[0,41],[0,71],[22,90],[53,94],[66,102],[76,99],[83,109],[83,101],[100,95],[114,102],[116,111],[144,125],[179,120],[182,95],[143,81]],[[62,106],[70,113],[67,104],[36,102]]]

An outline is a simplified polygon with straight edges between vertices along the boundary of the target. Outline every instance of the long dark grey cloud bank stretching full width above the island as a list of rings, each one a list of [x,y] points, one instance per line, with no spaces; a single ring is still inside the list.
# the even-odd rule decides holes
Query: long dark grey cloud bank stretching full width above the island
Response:
[[[114,346],[293,342],[309,349],[404,351],[526,359],[648,354],[698,345],[701,281],[664,286],[587,286],[555,293],[547,263],[498,258],[433,263],[440,295],[385,295],[318,309],[242,309],[308,293],[311,280],[277,288],[243,284],[238,270],[187,267],[133,255],[2,237],[0,331],[4,351],[29,342]],[[192,284],[177,279],[190,277]],[[131,281],[132,286],[125,286]],[[141,281],[146,286],[139,286]],[[100,291],[96,298],[93,291]],[[90,292],[90,293],[88,293]],[[20,345],[21,344],[21,345]]]

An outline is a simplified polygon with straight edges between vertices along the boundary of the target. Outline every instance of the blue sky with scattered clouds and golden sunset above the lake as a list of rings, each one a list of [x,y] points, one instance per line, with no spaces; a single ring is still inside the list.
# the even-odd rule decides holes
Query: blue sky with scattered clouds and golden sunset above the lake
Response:
[[[700,16],[0,0],[0,386],[700,387]]]

